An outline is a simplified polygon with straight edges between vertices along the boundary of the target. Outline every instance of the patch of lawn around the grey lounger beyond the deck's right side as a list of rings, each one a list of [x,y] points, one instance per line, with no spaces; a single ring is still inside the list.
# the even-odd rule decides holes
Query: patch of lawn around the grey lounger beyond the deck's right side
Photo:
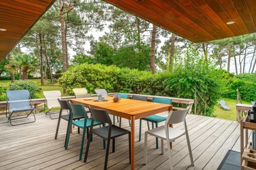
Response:
[[[224,111],[220,106],[214,107],[214,115],[218,118],[236,121],[236,99],[223,98],[226,105],[230,107],[230,111]],[[243,104],[251,104],[250,102],[243,101]]]

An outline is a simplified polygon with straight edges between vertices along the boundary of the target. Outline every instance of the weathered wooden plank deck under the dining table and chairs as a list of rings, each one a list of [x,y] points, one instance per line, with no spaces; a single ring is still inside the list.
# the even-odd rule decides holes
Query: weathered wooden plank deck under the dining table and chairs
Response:
[[[87,163],[84,163],[78,161],[81,134],[76,128],[65,150],[67,122],[61,120],[58,139],[54,140],[58,120],[51,120],[43,113],[36,114],[36,118],[35,123],[18,126],[11,126],[6,117],[0,118],[0,169],[103,169],[105,150],[102,139],[93,138]],[[186,138],[183,136],[173,144],[174,169],[217,169],[228,149],[240,150],[240,126],[237,122],[198,115],[187,115],[186,120],[195,166],[190,167]],[[139,142],[139,120],[135,121],[135,169],[167,169],[167,149],[161,155],[160,148],[155,149],[152,137],[149,138],[148,164],[143,164],[146,124],[143,122],[142,141]],[[122,120],[122,127],[129,129],[127,120]],[[109,154],[108,169],[130,169],[128,153],[128,138],[117,138],[116,151]]]

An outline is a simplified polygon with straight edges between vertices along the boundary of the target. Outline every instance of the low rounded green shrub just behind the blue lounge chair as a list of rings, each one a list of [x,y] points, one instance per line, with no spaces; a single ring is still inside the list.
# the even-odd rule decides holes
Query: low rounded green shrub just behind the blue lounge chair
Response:
[[[10,90],[28,90],[31,99],[37,98],[36,93],[38,88],[36,84],[29,80],[16,80],[13,83],[9,84]]]

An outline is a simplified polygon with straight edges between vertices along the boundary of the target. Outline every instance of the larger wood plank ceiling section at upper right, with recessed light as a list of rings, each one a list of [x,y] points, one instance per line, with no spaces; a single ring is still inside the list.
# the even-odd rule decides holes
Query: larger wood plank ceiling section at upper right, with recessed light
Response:
[[[194,43],[256,32],[256,0],[104,1]]]

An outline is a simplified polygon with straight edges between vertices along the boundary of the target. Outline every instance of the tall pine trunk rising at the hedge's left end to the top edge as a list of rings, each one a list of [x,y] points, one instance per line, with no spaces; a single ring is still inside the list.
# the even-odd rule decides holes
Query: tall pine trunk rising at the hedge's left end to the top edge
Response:
[[[61,27],[61,46],[62,46],[62,64],[63,64],[63,72],[68,69],[68,49],[67,49],[67,38],[65,31],[65,20],[63,18],[63,0],[59,0],[60,2],[60,27]]]

